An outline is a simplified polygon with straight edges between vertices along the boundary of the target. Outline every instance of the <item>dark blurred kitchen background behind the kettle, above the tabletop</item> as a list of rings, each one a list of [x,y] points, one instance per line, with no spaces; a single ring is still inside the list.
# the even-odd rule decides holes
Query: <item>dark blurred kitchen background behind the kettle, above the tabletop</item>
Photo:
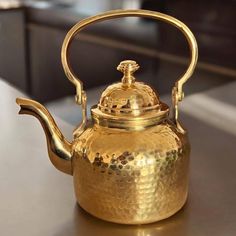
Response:
[[[61,65],[63,39],[85,17],[127,8],[172,15],[193,31],[199,63],[185,86],[186,95],[236,78],[235,0],[0,1],[0,77],[73,123],[73,114],[64,114],[65,107],[77,110],[72,105],[75,89]],[[168,24],[131,17],[87,27],[70,48],[72,67],[85,89],[91,89],[95,103],[106,85],[120,80],[116,66],[124,59],[140,64],[138,80],[151,84],[161,95],[170,95],[188,65],[188,45]]]

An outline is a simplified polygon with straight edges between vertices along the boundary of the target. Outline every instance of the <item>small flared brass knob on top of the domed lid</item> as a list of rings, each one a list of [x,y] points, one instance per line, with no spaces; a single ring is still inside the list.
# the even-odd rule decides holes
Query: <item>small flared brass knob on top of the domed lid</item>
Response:
[[[130,87],[131,84],[135,82],[135,78],[133,77],[133,73],[139,69],[139,65],[136,61],[125,60],[122,61],[118,66],[117,70],[124,74],[122,78],[123,86]]]

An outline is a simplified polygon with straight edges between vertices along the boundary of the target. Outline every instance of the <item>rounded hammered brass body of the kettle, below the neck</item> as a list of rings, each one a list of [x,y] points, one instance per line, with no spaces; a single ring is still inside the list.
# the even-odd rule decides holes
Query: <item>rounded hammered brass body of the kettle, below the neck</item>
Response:
[[[140,131],[93,126],[74,141],[78,203],[123,224],[167,218],[185,203],[189,143],[168,121]]]

